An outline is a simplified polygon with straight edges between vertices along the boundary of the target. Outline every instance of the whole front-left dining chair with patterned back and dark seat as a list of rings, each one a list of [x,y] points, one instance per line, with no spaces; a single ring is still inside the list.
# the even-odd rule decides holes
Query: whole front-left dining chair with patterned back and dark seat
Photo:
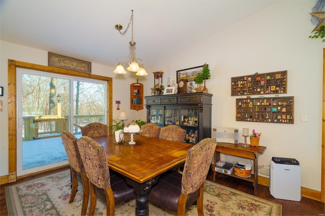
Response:
[[[131,186],[126,184],[123,177],[115,175],[114,179],[111,178],[104,148],[98,142],[83,136],[77,141],[77,146],[89,179],[88,214],[93,215],[95,211],[97,195],[94,190],[97,187],[104,190],[107,215],[114,215],[115,204],[135,198],[136,193]]]

